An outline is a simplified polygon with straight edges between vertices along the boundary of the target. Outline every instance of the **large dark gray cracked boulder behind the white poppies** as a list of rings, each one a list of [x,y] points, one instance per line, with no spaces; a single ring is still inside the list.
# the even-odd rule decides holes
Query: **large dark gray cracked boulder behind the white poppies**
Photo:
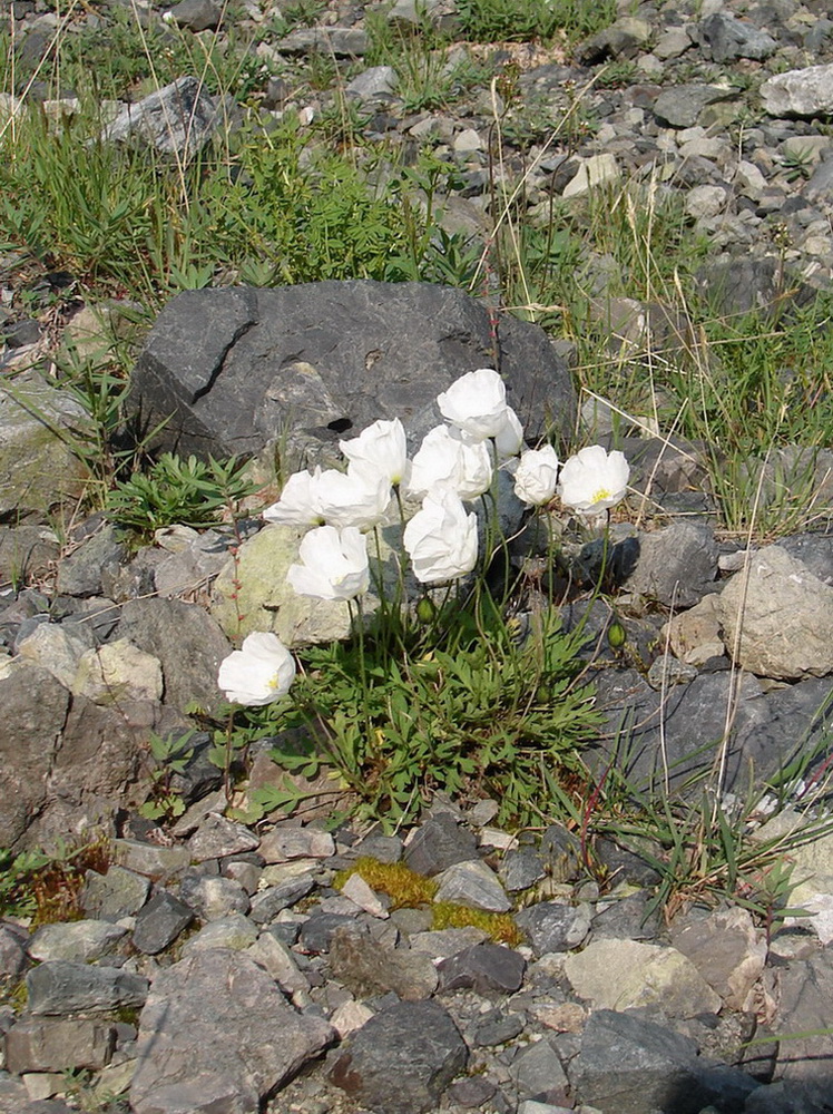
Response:
[[[150,331],[131,395],[143,429],[167,420],[160,446],[226,457],[277,438],[294,468],[378,418],[419,440],[440,421],[437,394],[488,367],[528,438],[571,427],[570,375],[541,329],[425,283],[185,291]]]

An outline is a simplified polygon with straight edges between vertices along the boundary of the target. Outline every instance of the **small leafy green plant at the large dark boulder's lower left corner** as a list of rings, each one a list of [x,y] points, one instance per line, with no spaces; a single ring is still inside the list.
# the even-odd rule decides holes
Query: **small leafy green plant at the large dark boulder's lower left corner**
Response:
[[[107,496],[107,515],[139,538],[174,522],[212,526],[220,511],[236,507],[258,488],[244,475],[245,462],[165,452],[147,472],[119,480]]]

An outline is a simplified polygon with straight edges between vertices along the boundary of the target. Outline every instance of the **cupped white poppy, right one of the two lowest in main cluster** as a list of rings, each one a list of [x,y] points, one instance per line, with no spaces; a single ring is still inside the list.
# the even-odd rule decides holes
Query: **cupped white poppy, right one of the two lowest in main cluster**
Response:
[[[477,564],[477,515],[467,515],[460,497],[440,488],[405,526],[403,543],[421,584],[455,580]]]

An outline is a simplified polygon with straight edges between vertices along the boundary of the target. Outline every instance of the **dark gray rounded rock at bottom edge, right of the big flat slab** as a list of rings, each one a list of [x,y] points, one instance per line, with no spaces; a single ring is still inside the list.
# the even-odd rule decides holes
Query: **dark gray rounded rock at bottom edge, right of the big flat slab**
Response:
[[[437,1108],[467,1058],[465,1043],[439,1003],[403,1001],[349,1039],[330,1078],[382,1114],[423,1114]]]

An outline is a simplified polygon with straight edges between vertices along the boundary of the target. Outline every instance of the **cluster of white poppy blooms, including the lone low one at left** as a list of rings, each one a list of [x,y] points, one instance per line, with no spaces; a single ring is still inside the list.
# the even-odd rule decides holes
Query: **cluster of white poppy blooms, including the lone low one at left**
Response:
[[[380,419],[339,442],[346,471],[295,472],[264,511],[266,521],[308,528],[300,564],[287,573],[300,595],[352,600],[367,590],[367,531],[395,519],[394,488],[422,504],[404,528],[403,545],[425,585],[459,579],[474,568],[477,516],[464,504],[490,489],[496,468],[513,475],[514,492],[527,506],[545,506],[558,495],[565,507],[594,518],[625,496],[629,468],[621,452],[594,444],[560,465],[552,446],[522,449],[521,423],[490,368],[462,375],[437,403],[445,422],[425,434],[413,460],[402,422]],[[222,663],[219,687],[235,703],[270,703],[288,691],[290,663],[275,635],[252,634]]]

